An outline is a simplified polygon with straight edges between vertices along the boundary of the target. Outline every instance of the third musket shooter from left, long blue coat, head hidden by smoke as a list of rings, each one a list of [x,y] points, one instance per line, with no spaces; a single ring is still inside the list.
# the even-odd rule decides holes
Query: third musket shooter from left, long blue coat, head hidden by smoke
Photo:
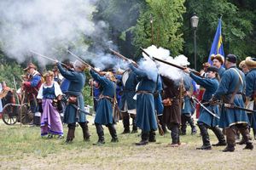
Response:
[[[140,80],[137,86],[137,116],[136,125],[142,129],[142,140],[136,145],[148,144],[148,139],[155,141],[157,122],[154,113],[154,88],[156,86],[157,71],[141,71],[128,61],[128,66]]]

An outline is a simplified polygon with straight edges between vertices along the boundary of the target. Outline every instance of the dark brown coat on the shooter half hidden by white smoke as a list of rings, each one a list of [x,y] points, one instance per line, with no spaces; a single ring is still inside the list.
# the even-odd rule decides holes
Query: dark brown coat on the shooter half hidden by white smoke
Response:
[[[180,114],[180,105],[179,105],[179,87],[178,80],[174,82],[172,79],[168,77],[161,77],[166,88],[164,88],[163,99],[173,98],[172,105],[165,106],[163,112],[163,122],[168,123],[181,123],[181,114]]]

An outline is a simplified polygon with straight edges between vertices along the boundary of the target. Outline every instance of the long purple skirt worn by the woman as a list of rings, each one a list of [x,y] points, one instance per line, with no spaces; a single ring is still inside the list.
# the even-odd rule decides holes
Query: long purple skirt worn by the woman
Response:
[[[52,106],[52,99],[42,99],[41,136],[49,133],[63,135],[61,116],[57,108]]]

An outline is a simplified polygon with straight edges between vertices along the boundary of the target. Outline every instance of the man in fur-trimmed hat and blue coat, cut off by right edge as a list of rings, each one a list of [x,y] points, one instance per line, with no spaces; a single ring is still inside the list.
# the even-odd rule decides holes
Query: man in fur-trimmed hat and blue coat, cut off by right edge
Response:
[[[247,57],[245,60],[245,65],[247,65],[247,68],[250,70],[247,73],[246,77],[246,96],[247,96],[247,102],[252,101],[253,103],[253,108],[248,108],[248,109],[253,109],[254,111],[256,110],[255,108],[255,102],[256,102],[256,59]],[[246,105],[247,105],[246,102]],[[253,137],[256,139],[256,116],[255,113],[248,113],[247,114],[249,122],[251,124],[250,127],[253,128]]]

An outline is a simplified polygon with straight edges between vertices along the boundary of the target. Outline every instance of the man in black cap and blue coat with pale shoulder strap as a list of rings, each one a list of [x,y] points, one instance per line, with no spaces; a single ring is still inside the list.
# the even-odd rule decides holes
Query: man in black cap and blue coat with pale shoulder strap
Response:
[[[215,94],[212,95],[209,104],[214,100],[223,98],[224,103],[244,107],[242,99],[242,86],[246,86],[244,74],[236,68],[237,58],[234,54],[228,54],[225,62],[226,71],[224,71]],[[243,84],[242,84],[243,83]],[[238,88],[236,88],[238,87]],[[233,97],[232,97],[233,96]],[[218,127],[226,128],[227,147],[226,151],[234,151],[236,145],[236,127],[246,142],[244,149],[253,150],[253,140],[248,130],[249,120],[246,111],[222,106]]]

